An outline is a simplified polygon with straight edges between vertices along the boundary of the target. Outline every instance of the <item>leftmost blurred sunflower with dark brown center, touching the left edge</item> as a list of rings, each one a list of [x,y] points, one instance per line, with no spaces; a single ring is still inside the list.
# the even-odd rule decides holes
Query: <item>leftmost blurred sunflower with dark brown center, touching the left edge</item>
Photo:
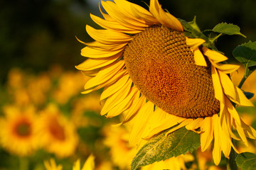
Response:
[[[0,118],[0,142],[11,154],[29,156],[38,149],[37,118],[32,106],[4,106]]]

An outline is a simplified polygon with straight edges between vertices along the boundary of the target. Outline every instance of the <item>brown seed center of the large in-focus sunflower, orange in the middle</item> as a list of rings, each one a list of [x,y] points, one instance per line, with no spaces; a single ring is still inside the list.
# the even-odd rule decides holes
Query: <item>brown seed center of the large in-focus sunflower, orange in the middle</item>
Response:
[[[194,64],[182,32],[152,26],[134,35],[124,50],[134,84],[149,101],[172,115],[206,117],[218,113],[208,67]]]

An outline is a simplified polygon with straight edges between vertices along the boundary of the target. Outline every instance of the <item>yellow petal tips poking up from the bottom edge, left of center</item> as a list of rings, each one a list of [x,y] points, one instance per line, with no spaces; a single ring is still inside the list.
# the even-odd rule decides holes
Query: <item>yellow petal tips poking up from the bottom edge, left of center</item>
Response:
[[[82,169],[80,168],[80,159],[76,161],[73,165],[73,170],[93,170],[95,169],[95,157],[91,154],[85,164],[82,166]],[[54,159],[50,159],[49,161],[44,162],[46,166],[46,170],[62,170],[63,166],[62,165],[57,165],[54,161]]]

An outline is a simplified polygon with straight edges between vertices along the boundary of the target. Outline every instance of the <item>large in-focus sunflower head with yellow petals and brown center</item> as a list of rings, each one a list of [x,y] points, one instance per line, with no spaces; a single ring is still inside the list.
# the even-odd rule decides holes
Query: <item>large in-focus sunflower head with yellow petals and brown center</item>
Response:
[[[91,15],[105,29],[86,26],[94,42],[81,55],[87,57],[77,69],[92,77],[84,94],[104,88],[101,115],[122,115],[122,123],[134,121],[129,142],[141,145],[159,132],[186,127],[201,134],[201,149],[212,141],[213,160],[221,152],[229,157],[231,142],[256,131],[245,124],[232,103],[253,106],[233,85],[228,74],[237,64],[228,64],[220,52],[210,49],[201,38],[185,35],[181,22],[151,0],[149,11],[125,0],[102,1],[104,18]],[[238,131],[238,136],[233,133]]]

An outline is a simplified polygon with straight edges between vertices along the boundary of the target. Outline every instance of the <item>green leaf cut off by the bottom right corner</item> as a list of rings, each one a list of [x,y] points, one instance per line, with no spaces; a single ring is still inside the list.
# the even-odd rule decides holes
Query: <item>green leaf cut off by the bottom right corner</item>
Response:
[[[238,154],[235,162],[238,164],[238,167],[241,170],[250,170],[255,169],[256,167],[256,154],[252,154],[250,152],[243,152]]]

